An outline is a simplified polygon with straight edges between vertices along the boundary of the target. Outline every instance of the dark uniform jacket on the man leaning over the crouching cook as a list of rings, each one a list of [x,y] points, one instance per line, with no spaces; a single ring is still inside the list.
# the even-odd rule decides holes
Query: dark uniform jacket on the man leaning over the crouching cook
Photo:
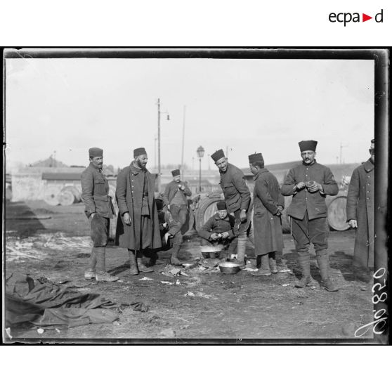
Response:
[[[225,197],[228,212],[235,212],[239,209],[248,210],[251,201],[250,192],[247,183],[245,183],[244,174],[237,166],[228,164],[228,169],[221,174],[221,188]]]

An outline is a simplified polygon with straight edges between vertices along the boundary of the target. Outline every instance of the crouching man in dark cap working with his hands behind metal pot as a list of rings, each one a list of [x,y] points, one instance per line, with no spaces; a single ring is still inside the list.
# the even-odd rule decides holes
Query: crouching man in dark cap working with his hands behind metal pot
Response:
[[[228,215],[226,203],[223,200],[217,203],[217,207],[216,214],[204,223],[198,234],[202,237],[203,246],[222,244],[221,261],[226,261],[228,255],[235,254],[237,248],[238,238],[233,231],[235,218]]]

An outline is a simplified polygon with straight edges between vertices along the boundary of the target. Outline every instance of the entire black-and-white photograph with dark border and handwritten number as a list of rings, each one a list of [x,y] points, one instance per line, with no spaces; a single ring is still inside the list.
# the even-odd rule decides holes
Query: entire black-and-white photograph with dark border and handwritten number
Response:
[[[4,51],[3,341],[388,344],[389,51]]]

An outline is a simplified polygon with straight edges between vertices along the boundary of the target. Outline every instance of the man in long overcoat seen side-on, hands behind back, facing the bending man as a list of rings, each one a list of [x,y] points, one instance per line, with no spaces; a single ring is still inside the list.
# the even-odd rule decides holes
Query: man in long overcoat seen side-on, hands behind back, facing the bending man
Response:
[[[283,249],[281,216],[285,198],[276,177],[264,167],[261,153],[249,155],[249,167],[254,174],[254,253],[259,268],[251,275],[268,276],[277,273],[276,251],[281,254]]]

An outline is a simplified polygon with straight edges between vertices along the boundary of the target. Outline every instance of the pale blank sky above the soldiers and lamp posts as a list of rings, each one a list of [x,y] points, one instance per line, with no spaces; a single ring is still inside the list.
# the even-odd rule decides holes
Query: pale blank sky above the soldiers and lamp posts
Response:
[[[319,142],[318,162],[363,162],[374,137],[372,60],[7,59],[7,159],[26,164],[53,151],[65,164],[126,166],[133,148],[155,162],[157,98],[162,164],[230,149],[233,164],[262,152],[266,164],[299,158],[298,141]],[[197,162],[195,162],[195,167]],[[211,160],[211,167],[213,167]]]

